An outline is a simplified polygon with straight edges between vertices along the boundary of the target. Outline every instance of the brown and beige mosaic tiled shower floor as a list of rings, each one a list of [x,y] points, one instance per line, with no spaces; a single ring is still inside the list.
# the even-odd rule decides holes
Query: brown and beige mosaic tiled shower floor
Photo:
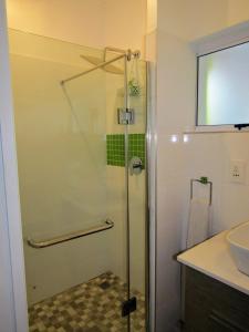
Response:
[[[131,331],[145,331],[145,299],[137,291],[137,310],[131,314]],[[121,317],[125,283],[112,272],[73,287],[29,309],[30,332],[125,332]]]

